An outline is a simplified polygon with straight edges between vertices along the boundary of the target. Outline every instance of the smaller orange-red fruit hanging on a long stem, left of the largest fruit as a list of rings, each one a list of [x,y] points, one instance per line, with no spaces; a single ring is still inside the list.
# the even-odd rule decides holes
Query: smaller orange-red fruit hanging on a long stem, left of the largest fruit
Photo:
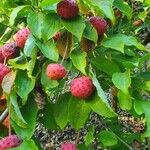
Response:
[[[67,71],[61,64],[49,64],[46,74],[51,80],[59,80],[65,77]]]

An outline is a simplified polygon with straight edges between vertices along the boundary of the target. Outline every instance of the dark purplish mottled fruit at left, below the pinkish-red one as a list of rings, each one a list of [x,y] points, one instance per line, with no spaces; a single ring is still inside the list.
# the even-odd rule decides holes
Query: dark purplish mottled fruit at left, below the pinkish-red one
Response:
[[[14,58],[19,54],[19,48],[15,42],[7,43],[2,47],[2,54],[7,59]]]

